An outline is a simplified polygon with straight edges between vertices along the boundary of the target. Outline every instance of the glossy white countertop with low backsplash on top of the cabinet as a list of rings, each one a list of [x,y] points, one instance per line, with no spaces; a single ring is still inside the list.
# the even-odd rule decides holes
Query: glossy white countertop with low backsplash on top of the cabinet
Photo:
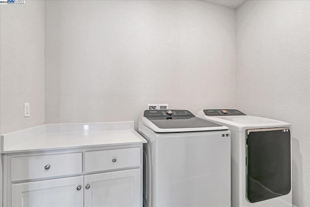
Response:
[[[134,122],[47,124],[1,135],[1,153],[146,142]]]

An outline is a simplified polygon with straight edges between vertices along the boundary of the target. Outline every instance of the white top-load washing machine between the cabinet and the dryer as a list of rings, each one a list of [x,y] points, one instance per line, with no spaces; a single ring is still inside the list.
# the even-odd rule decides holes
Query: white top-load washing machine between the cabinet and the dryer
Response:
[[[144,207],[231,206],[228,127],[187,110],[146,110],[138,128]]]

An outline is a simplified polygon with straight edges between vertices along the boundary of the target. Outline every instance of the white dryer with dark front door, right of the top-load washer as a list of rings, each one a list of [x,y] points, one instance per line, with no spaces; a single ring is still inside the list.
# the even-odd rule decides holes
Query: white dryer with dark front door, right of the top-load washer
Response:
[[[197,117],[229,127],[232,136],[232,207],[292,207],[291,125],[211,109]]]

